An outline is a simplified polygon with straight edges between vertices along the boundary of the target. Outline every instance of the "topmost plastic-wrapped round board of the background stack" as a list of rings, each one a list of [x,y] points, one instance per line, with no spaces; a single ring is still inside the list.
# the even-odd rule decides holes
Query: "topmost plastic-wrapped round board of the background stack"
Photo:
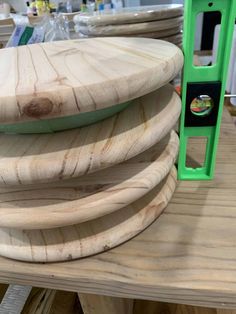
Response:
[[[116,25],[132,24],[146,21],[170,19],[183,15],[183,6],[180,4],[152,5],[132,8],[123,8],[105,14],[76,15],[75,24],[86,25]]]

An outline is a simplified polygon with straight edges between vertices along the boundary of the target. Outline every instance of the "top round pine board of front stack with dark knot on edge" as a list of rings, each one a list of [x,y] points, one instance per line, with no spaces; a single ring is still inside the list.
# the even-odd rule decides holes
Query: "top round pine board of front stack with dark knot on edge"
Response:
[[[0,123],[112,107],[171,81],[183,54],[147,38],[90,38],[0,50]]]

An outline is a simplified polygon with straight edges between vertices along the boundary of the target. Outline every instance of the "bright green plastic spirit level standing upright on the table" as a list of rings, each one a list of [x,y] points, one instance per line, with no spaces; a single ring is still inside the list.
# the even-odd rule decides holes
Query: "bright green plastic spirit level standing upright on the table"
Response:
[[[197,15],[202,12],[221,12],[221,30],[217,60],[211,66],[194,66],[194,42]],[[217,146],[224,104],[228,64],[236,18],[236,0],[185,0],[183,52],[185,56],[182,81],[182,114],[180,120],[180,153],[178,178],[180,180],[210,180],[214,177]],[[186,95],[188,83],[220,82],[220,101],[215,125],[186,126]],[[190,137],[206,137],[205,161],[202,167],[186,166],[187,143]]]

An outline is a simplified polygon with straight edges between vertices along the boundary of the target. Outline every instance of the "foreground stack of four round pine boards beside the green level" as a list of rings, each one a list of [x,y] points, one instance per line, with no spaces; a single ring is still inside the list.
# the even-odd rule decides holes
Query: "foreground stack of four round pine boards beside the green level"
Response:
[[[2,132],[36,133],[0,135],[2,256],[89,256],[161,214],[176,186],[173,129],[181,111],[168,82],[182,65],[178,47],[147,38],[0,51]],[[73,121],[85,113],[86,126],[78,127]],[[53,125],[59,132],[40,134]]]

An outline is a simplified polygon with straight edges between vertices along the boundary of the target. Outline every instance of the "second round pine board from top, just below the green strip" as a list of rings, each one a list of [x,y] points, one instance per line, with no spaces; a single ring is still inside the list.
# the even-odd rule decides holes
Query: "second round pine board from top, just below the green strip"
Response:
[[[173,86],[81,129],[41,135],[0,135],[0,185],[38,184],[95,172],[126,161],[173,129],[181,100]]]

